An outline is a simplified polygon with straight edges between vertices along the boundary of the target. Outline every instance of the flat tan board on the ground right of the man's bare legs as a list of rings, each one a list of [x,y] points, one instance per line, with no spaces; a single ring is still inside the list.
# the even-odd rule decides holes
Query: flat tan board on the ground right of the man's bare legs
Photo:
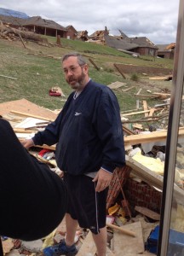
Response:
[[[115,255],[127,255],[128,253],[143,253],[145,251],[142,236],[141,222],[124,225],[124,229],[134,231],[136,236],[126,236],[114,230],[114,253]]]

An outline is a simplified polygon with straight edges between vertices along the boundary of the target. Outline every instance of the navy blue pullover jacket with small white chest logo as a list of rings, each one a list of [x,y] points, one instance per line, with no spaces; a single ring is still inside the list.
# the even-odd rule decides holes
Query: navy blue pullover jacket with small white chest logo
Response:
[[[117,97],[106,85],[90,80],[76,100],[68,97],[55,122],[33,137],[36,145],[57,143],[60,170],[72,175],[113,172],[124,166],[124,135]]]

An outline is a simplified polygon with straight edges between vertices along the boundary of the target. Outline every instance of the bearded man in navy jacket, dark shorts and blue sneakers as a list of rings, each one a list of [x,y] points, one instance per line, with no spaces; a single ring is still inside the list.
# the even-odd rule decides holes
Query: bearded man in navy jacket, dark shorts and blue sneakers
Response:
[[[66,238],[43,250],[46,256],[75,255],[78,224],[91,230],[97,255],[106,255],[106,195],[116,166],[124,166],[124,138],[116,96],[106,85],[89,79],[82,55],[62,59],[63,72],[74,92],[55,122],[25,143],[57,143],[55,157],[68,189]]]

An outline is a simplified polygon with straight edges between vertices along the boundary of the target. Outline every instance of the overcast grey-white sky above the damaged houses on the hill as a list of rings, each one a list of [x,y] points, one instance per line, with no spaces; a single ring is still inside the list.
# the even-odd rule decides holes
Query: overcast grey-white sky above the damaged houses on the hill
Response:
[[[181,0],[182,1],[182,0]],[[42,16],[89,35],[105,26],[128,37],[147,37],[153,44],[175,43],[180,0],[1,0],[0,8]]]

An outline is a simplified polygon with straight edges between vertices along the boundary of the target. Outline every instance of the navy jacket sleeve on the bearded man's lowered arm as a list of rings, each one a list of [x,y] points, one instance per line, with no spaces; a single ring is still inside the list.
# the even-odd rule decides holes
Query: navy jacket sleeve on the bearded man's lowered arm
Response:
[[[113,172],[117,166],[125,165],[124,133],[117,97],[108,88],[101,92],[96,122],[103,148],[101,167]]]

